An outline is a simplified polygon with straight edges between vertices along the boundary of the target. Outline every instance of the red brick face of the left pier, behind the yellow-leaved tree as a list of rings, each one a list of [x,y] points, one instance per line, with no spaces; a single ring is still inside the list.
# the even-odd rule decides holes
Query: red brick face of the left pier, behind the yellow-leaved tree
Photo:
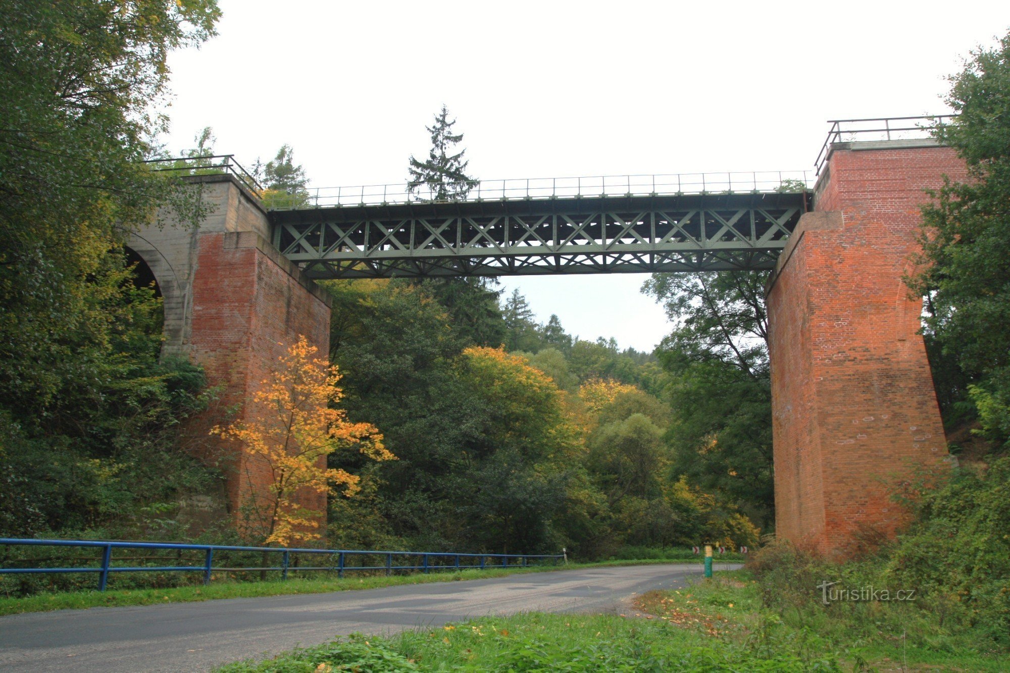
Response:
[[[328,356],[329,306],[256,231],[200,234],[192,306],[191,357],[222,386],[222,407],[240,405],[240,419],[261,411],[254,394],[300,334],[320,358]],[[269,466],[233,446],[209,446],[223,460],[237,513],[250,493],[272,483]],[[299,500],[325,515],[325,495],[303,492]]]

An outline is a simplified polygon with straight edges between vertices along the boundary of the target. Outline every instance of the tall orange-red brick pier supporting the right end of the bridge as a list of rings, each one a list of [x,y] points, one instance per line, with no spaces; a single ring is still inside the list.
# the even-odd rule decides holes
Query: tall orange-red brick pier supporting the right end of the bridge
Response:
[[[942,147],[835,150],[769,294],[780,538],[844,555],[893,536],[894,485],[943,465],[912,271],[919,207],[965,165]],[[856,149],[852,149],[856,148]]]

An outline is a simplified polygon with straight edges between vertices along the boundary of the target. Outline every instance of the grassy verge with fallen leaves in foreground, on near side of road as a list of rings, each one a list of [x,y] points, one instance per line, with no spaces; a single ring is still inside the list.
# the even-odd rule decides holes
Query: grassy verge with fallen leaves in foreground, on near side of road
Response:
[[[355,635],[219,673],[1006,670],[995,655],[893,634],[867,639],[853,624],[818,635],[763,607],[761,593],[747,573],[720,573],[686,590],[645,594],[625,614],[526,613],[390,639]]]

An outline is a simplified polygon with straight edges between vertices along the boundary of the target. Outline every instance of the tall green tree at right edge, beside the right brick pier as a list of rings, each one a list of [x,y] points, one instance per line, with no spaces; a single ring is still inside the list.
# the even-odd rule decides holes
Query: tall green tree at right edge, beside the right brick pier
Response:
[[[1010,35],[949,78],[952,123],[937,139],[965,159],[970,180],[947,181],[923,208],[925,332],[945,375],[940,399],[970,400],[996,444],[1010,441]]]

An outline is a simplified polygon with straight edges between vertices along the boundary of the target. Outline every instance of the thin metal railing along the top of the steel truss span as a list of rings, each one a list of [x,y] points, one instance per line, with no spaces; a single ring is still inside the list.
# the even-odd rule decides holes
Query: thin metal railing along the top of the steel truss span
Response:
[[[569,178],[506,178],[478,180],[463,198],[453,201],[511,201],[601,196],[667,196],[675,194],[774,193],[811,186],[808,171],[747,171],[727,173],[671,173],[663,175],[575,176]],[[285,198],[290,196],[290,198]],[[391,205],[443,201],[427,185],[411,189],[408,183],[314,187],[308,194],[272,195],[274,209],[327,206]]]

